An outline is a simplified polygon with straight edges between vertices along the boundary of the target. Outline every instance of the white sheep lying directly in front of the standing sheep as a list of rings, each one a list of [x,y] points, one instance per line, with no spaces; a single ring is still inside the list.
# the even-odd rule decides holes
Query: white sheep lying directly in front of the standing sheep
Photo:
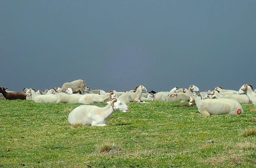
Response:
[[[82,95],[80,94],[66,94],[61,92],[57,95],[58,97],[57,103],[68,103],[68,104],[78,103],[79,98],[81,96]]]

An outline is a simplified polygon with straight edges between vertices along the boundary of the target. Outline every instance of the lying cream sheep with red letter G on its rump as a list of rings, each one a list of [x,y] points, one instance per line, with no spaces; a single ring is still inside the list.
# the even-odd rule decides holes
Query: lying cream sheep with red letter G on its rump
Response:
[[[241,104],[234,99],[205,99],[201,100],[198,95],[190,96],[189,104],[195,101],[200,114],[210,115],[240,115],[244,113]]]

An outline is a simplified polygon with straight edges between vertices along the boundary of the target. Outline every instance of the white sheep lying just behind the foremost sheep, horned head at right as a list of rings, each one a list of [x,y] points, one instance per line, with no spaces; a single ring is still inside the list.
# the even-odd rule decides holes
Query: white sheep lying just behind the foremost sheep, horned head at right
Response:
[[[108,101],[111,98],[116,98],[116,94],[114,92],[106,93],[105,95],[98,95],[98,94],[85,94],[82,95],[78,103],[83,104],[90,104],[90,103],[103,103]]]

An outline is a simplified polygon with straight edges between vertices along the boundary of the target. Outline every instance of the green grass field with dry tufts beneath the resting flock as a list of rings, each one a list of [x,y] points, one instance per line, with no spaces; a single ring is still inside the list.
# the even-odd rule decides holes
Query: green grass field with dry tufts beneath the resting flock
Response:
[[[209,117],[183,104],[128,103],[87,127],[68,124],[80,104],[0,100],[0,167],[255,167],[253,104]]]

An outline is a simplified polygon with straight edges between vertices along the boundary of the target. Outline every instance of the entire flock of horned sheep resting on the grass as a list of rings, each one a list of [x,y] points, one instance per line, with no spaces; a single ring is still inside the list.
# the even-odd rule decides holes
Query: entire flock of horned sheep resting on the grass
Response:
[[[173,88],[169,92],[148,93],[148,90],[140,85],[134,90],[116,92],[111,90],[108,93],[104,90],[92,90],[85,86],[84,80],[75,80],[64,83],[61,88],[46,89],[44,93],[33,88],[24,88],[23,92],[11,92],[1,87],[0,93],[2,98],[27,99],[36,103],[103,103],[107,102],[105,107],[95,105],[80,105],[69,113],[68,122],[71,125],[83,124],[86,126],[106,126],[108,118],[115,111],[124,113],[129,110],[126,103],[138,102],[148,103],[145,101],[169,101],[169,102],[189,102],[189,105],[196,105],[200,114],[209,115],[240,115],[244,110],[240,103],[253,103],[256,105],[256,89],[250,84],[243,85],[239,91],[225,90],[216,87],[215,90],[206,90],[199,92],[195,85],[186,88]],[[0,95],[1,98],[1,95]]]

